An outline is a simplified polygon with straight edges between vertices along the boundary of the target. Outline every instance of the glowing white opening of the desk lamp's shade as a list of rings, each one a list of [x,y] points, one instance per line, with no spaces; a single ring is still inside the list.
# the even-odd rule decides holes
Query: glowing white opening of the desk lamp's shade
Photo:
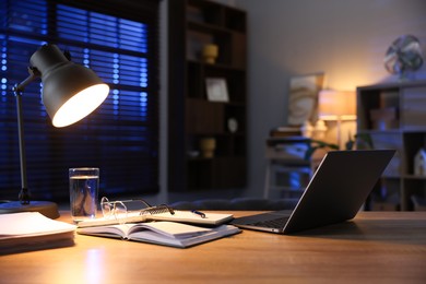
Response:
[[[67,127],[83,119],[105,100],[108,93],[107,84],[97,84],[81,91],[58,109],[52,118],[54,126]]]

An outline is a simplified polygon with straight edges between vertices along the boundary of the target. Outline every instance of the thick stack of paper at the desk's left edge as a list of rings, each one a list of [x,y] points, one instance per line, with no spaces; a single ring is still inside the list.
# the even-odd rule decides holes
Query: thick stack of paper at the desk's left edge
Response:
[[[74,225],[38,212],[0,214],[0,255],[74,245]]]

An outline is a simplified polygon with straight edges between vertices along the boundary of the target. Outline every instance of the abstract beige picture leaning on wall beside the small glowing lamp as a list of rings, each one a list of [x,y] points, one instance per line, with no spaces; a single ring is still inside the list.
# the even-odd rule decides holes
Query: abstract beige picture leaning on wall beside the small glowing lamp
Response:
[[[317,121],[318,92],[322,88],[323,81],[323,73],[291,78],[287,118],[289,126]]]

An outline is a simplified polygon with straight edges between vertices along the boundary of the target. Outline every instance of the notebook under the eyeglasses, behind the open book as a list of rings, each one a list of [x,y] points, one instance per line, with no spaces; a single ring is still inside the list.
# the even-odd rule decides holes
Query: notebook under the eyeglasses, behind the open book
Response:
[[[105,226],[114,225],[119,223],[140,223],[140,222],[150,222],[150,221],[173,221],[180,223],[189,223],[196,225],[209,225],[217,226],[224,224],[234,218],[233,214],[223,214],[223,213],[204,213],[205,216],[201,217],[199,214],[194,214],[191,211],[179,211],[175,210],[175,214],[169,212],[155,213],[153,215],[145,214],[140,215],[139,212],[129,212],[126,218],[116,220],[114,216],[109,218],[100,217],[79,222],[79,227],[93,227],[93,226]]]

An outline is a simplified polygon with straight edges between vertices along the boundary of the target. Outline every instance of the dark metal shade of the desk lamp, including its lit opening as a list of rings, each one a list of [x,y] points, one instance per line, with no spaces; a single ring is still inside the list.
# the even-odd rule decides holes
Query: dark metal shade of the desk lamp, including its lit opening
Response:
[[[108,96],[109,86],[95,72],[68,60],[56,45],[42,46],[29,63],[42,74],[43,103],[55,127],[83,119]]]

